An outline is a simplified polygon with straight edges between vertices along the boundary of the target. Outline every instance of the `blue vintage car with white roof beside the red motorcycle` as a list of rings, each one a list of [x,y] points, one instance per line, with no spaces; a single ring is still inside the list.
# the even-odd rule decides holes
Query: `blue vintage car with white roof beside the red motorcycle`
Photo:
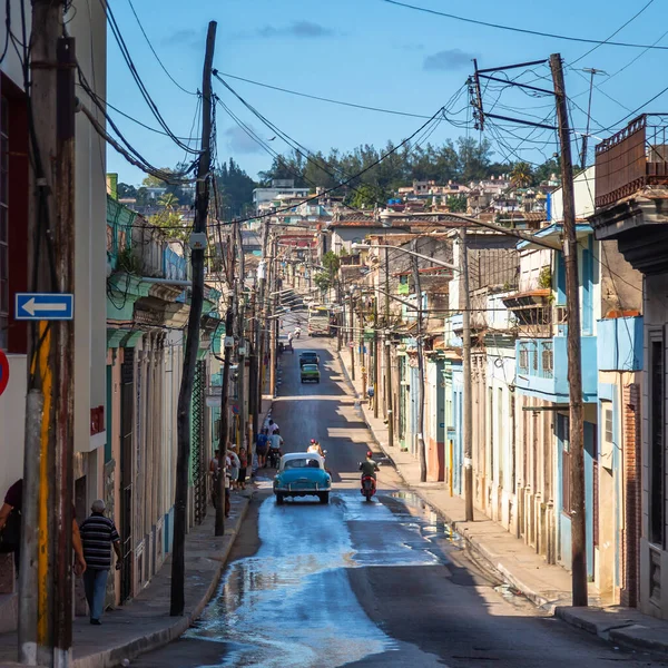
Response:
[[[276,503],[286,497],[317,497],[321,503],[330,502],[332,478],[325,471],[325,460],[315,452],[291,452],[281,458],[274,478]]]

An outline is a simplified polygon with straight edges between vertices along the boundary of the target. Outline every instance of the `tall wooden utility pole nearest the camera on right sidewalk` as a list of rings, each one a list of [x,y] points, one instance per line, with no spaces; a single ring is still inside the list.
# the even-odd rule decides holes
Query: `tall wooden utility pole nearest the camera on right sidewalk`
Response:
[[[566,301],[568,305],[568,384],[571,456],[571,550],[573,606],[587,607],[587,524],[584,505],[584,424],[582,415],[582,369],[580,341],[580,294],[578,278],[578,239],[571,137],[568,100],[563,84],[561,55],[550,56],[554,80],[559,141],[561,143],[561,187],[563,191],[563,259],[566,264]]]

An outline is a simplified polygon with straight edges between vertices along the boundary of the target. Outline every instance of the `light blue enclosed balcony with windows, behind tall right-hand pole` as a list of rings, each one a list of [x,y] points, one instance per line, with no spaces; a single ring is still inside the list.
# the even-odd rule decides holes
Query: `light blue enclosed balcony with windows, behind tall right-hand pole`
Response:
[[[597,337],[582,336],[582,394],[596,401],[598,386]],[[520,338],[515,342],[518,390],[551,401],[568,403],[568,355],[566,336]]]

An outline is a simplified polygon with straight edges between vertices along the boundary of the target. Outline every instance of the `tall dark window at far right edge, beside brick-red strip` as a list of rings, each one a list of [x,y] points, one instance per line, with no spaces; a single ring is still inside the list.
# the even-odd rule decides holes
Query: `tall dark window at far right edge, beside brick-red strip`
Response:
[[[664,338],[649,345],[649,541],[665,547]]]

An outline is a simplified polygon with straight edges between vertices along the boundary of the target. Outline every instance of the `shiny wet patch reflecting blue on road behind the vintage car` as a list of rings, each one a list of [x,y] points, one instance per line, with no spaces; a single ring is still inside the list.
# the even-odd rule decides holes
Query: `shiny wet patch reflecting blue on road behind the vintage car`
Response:
[[[216,668],[335,668],[397,650],[360,606],[346,569],[443,563],[433,540],[445,531],[400,512],[399,500],[391,505],[352,492],[336,493],[330,505],[266,500],[261,548],[229,567],[187,636],[222,644]]]

